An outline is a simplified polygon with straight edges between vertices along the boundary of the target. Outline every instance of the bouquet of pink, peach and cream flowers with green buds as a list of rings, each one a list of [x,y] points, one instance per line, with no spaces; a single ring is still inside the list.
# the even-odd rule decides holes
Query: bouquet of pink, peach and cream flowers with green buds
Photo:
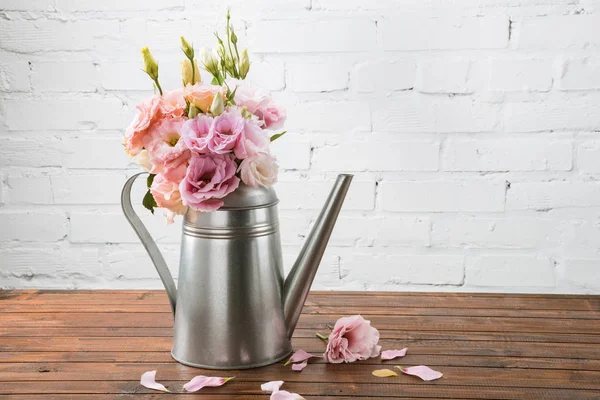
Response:
[[[183,86],[164,92],[157,62],[142,49],[155,94],[137,105],[124,146],[150,173],[143,205],[152,213],[164,208],[170,223],[188,207],[219,209],[240,184],[268,186],[277,180],[269,144],[285,134],[274,131],[283,126],[285,111],[268,92],[244,82],[250,60],[247,49],[238,51],[229,13],[225,38],[215,36],[217,49],[202,57],[210,83],[202,80],[193,46],[181,37]]]

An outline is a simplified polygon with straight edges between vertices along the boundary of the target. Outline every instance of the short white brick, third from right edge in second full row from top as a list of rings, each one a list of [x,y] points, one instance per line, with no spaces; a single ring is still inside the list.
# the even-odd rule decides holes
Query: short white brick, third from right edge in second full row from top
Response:
[[[472,93],[469,60],[427,60],[419,62],[415,89],[422,93]]]

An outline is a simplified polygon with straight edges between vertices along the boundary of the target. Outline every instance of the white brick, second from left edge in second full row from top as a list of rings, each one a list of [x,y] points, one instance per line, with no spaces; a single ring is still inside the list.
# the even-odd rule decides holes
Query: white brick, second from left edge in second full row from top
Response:
[[[98,72],[92,61],[36,62],[31,82],[35,91],[94,92],[99,86]]]

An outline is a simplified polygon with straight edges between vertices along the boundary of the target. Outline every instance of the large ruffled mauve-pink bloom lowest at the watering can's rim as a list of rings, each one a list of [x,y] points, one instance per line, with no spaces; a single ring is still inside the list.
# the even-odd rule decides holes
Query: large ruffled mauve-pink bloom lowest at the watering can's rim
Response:
[[[185,179],[179,184],[183,204],[198,211],[215,211],[223,197],[237,189],[233,154],[193,154]]]

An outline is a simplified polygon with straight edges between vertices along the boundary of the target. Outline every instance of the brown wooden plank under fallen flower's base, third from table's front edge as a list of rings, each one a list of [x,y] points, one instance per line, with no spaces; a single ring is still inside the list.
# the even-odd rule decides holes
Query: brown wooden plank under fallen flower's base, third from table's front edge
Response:
[[[0,363],[175,363],[169,352],[159,351],[130,351],[130,352],[0,352]],[[322,363],[312,361],[311,363]],[[479,368],[537,368],[563,369],[580,371],[600,371],[600,360],[571,359],[571,358],[542,358],[542,357],[513,357],[513,356],[468,356],[468,355],[430,355],[408,354],[402,359],[381,362],[370,359],[361,362],[381,368],[382,365],[417,365],[425,364],[430,367],[479,367]],[[386,367],[387,368],[387,367]],[[0,377],[1,380],[1,377]]]

